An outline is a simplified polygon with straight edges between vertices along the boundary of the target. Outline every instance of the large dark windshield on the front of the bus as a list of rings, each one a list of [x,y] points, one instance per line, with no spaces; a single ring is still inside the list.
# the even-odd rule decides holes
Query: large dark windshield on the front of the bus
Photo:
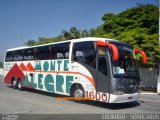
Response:
[[[118,61],[112,60],[114,75],[119,76],[127,72],[136,72],[136,60],[133,48],[124,44],[116,43],[115,45],[118,48],[119,59]]]

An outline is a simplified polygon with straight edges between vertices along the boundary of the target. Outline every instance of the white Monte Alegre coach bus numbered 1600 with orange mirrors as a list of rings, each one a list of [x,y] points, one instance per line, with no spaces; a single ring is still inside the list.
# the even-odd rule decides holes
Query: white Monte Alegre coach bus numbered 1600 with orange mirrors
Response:
[[[141,80],[131,45],[108,38],[80,38],[8,49],[4,83],[106,103],[139,100]]]

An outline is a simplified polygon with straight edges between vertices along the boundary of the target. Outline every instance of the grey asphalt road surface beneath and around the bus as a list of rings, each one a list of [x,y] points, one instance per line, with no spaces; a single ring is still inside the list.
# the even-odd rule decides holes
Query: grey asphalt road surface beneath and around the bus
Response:
[[[122,104],[95,101],[77,103],[69,100],[57,100],[57,96],[59,95],[37,90],[13,89],[0,79],[1,114],[160,114],[160,95],[145,94],[142,95],[141,101]],[[63,118],[63,116],[61,117]],[[81,119],[82,117],[83,115]],[[43,117],[41,116],[41,118]],[[93,116],[93,118],[96,117]]]

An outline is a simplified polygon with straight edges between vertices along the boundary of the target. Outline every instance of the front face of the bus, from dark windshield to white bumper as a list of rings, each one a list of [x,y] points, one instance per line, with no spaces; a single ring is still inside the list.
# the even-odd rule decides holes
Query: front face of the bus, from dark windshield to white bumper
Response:
[[[140,75],[133,48],[125,43],[111,43],[117,46],[119,58],[114,61],[111,57],[110,102],[135,101],[139,97]]]

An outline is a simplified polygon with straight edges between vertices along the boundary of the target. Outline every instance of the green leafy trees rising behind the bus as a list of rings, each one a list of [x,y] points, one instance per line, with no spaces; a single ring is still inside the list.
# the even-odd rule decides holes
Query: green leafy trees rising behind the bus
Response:
[[[69,31],[63,30],[58,37],[39,37],[38,41],[28,40],[26,44],[32,46],[89,36],[113,38],[131,44],[135,48],[143,49],[148,56],[148,65],[158,65],[160,46],[158,45],[159,13],[157,6],[141,4],[119,14],[106,13],[101,19],[104,23],[89,31],[72,27]],[[138,62],[143,65],[141,59],[142,57],[137,54]]]

